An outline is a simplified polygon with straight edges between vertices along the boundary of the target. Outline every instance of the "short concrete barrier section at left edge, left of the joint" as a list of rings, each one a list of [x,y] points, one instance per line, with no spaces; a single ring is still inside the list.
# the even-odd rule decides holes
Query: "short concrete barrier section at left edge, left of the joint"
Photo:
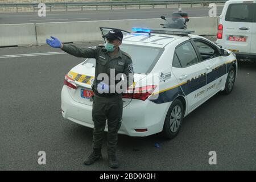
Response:
[[[35,24],[0,24],[0,47],[36,45]]]

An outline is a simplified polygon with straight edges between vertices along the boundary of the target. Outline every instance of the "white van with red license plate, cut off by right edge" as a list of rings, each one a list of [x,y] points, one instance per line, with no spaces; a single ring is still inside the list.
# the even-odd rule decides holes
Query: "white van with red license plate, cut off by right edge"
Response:
[[[217,44],[237,59],[256,61],[256,0],[227,1],[220,15]]]

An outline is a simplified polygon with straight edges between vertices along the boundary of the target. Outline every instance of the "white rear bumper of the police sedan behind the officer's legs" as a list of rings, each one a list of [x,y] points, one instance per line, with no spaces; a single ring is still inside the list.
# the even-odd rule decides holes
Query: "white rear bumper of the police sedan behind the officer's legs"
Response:
[[[159,111],[159,106],[163,109]],[[131,137],[146,137],[162,131],[164,119],[169,104],[155,104],[151,101],[133,100],[132,103],[123,108],[122,125],[118,134],[125,134]],[[69,95],[66,85],[61,90],[61,110],[63,118],[82,126],[93,128],[92,106],[74,101]],[[157,111],[155,113],[154,111]],[[147,129],[144,132],[137,132],[135,129]],[[108,125],[105,127],[108,131]]]

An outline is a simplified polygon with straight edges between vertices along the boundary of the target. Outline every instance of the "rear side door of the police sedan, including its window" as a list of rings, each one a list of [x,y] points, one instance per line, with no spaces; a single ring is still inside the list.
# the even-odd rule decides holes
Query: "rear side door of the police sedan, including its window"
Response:
[[[176,47],[172,72],[187,98],[188,112],[195,109],[204,101],[207,77],[190,40]]]

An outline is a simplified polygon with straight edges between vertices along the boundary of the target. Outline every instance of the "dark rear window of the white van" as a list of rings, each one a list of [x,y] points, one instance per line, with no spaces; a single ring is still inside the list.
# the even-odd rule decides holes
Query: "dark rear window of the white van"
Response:
[[[225,20],[228,22],[256,22],[256,3],[230,4]]]

